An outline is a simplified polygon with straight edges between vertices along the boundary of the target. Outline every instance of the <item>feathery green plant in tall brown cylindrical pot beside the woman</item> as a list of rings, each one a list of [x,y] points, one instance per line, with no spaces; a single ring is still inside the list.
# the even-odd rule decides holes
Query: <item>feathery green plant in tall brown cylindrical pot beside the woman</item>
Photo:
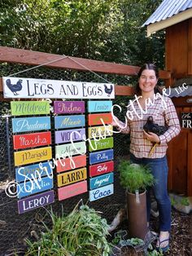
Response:
[[[147,233],[146,188],[155,179],[146,166],[120,161],[120,184],[126,189],[129,232],[132,237],[144,239]]]

